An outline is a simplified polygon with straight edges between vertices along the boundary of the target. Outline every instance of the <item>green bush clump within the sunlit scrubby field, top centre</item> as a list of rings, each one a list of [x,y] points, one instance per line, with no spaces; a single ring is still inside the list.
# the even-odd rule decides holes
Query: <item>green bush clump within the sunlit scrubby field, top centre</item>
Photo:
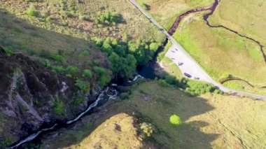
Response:
[[[122,15],[118,13],[114,13],[111,11],[105,11],[100,15],[97,20],[95,20],[96,24],[99,23],[105,23],[105,24],[111,24],[111,23],[120,23],[122,22]]]

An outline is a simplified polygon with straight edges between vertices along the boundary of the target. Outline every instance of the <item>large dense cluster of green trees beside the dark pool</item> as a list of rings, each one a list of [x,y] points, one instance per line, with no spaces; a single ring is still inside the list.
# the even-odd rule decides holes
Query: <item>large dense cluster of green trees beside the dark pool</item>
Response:
[[[123,78],[132,78],[137,65],[147,64],[160,46],[158,43],[148,43],[141,39],[128,43],[109,37],[104,41],[95,38],[94,41],[109,56],[113,75]]]

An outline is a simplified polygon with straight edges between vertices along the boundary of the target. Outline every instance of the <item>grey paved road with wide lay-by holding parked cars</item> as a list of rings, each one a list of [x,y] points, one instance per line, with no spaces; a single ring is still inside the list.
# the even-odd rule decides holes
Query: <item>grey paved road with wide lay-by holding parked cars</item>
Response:
[[[158,27],[158,29],[160,29],[160,31],[162,31],[162,33],[167,36],[169,41],[173,43],[172,47],[169,48],[169,50],[167,51],[166,56],[172,59],[172,61],[177,66],[179,66],[179,62],[183,62],[183,64],[179,66],[179,69],[181,70],[182,73],[190,74],[192,76],[192,79],[197,77],[197,78],[200,78],[200,80],[206,81],[207,83],[211,83],[215,85],[216,87],[218,87],[223,92],[228,92],[228,93],[232,93],[232,94],[239,95],[239,96],[253,97],[255,99],[266,100],[265,96],[232,90],[227,87],[224,87],[220,83],[217,83],[204,71],[204,69],[202,69],[200,64],[198,64],[195,61],[195,59],[193,59],[193,57],[191,57],[188,54],[188,52],[186,52],[186,50],[179,43],[177,43],[176,40],[172,36],[170,36],[164,28],[160,26],[160,24],[158,24],[158,22],[153,20],[153,18],[150,15],[148,15],[148,13],[146,13],[146,11],[143,8],[141,8],[141,6],[139,6],[139,3],[137,3],[137,1],[130,0],[130,2],[134,6],[136,6],[139,9],[139,11],[141,11],[141,13],[143,13],[148,18],[148,20],[150,20],[156,27]]]

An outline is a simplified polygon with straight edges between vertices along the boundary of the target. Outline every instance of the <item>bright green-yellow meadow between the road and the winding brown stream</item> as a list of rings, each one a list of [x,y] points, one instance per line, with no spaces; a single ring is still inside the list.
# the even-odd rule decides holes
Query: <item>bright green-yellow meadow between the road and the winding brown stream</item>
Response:
[[[234,82],[235,85],[226,83],[225,86],[234,89],[241,86],[241,90],[247,92],[266,94],[260,89],[266,83],[266,66],[257,44],[225,29],[209,28],[203,20],[182,24],[174,38],[215,80],[221,81],[224,76],[241,78],[255,87],[238,81]]]

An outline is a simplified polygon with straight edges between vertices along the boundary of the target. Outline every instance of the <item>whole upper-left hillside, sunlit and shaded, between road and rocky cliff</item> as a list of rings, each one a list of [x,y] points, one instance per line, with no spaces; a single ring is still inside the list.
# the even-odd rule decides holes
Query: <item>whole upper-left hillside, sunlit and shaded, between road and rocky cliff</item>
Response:
[[[160,44],[165,38],[126,0],[83,3],[76,0],[4,0],[0,1],[0,17],[0,45],[8,52],[22,52],[53,71],[89,82],[99,78],[94,66],[102,67],[106,72],[98,80],[108,82],[112,76],[109,55],[101,52],[103,46],[99,48],[94,43],[95,38],[98,41],[99,38],[117,38],[125,44],[130,41]],[[110,46],[106,44],[107,48]],[[85,77],[83,71],[89,71],[93,77]]]

